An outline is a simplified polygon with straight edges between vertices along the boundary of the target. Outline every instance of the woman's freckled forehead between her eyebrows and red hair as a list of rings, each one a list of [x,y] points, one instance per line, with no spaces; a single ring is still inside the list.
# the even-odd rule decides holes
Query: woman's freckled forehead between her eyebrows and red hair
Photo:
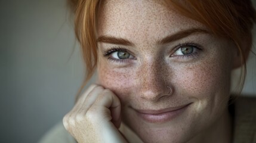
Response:
[[[134,43],[149,42],[202,24],[178,14],[164,1],[109,0],[98,13],[98,36],[116,36]]]

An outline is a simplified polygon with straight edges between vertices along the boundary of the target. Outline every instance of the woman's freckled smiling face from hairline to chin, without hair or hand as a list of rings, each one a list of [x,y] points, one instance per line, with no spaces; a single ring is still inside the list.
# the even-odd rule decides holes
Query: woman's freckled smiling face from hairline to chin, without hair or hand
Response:
[[[105,1],[97,30],[98,82],[144,142],[189,141],[226,113],[231,42],[160,1]]]

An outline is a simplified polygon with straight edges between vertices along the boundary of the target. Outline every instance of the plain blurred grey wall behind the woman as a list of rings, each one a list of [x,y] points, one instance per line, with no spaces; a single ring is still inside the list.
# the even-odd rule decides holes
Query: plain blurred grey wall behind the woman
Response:
[[[36,142],[72,108],[84,77],[66,1],[0,0],[0,18],[0,142]],[[256,95],[255,55],[248,67],[243,92]]]

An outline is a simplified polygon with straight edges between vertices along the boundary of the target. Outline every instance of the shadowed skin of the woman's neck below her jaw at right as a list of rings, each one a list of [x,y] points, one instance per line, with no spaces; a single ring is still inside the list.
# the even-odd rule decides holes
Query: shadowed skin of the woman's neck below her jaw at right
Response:
[[[232,117],[229,114],[229,110],[226,109],[223,116],[220,117],[212,126],[204,130],[203,133],[196,136],[194,142],[208,142],[208,143],[230,143],[232,142]]]

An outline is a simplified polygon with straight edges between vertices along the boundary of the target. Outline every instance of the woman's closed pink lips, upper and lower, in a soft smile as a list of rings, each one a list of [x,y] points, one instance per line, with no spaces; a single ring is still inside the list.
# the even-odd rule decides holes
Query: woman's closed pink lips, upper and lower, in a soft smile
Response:
[[[178,114],[182,113],[190,105],[181,105],[178,107],[165,108],[163,110],[136,110],[139,117],[149,123],[164,123],[174,119]]]

